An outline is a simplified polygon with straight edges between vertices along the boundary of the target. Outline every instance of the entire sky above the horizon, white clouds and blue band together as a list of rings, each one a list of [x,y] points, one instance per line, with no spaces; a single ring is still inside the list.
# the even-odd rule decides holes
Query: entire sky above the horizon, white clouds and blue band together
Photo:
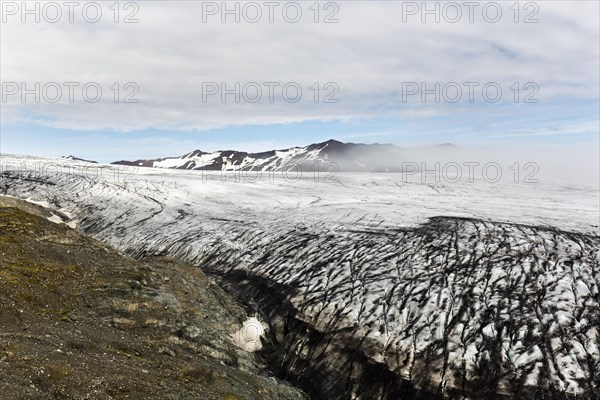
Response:
[[[597,1],[0,3],[2,153],[333,138],[574,146],[597,162]]]

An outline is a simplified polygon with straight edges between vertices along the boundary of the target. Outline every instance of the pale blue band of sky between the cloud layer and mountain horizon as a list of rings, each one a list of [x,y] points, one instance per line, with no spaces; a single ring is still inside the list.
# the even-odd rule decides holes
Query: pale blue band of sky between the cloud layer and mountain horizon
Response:
[[[51,157],[74,154],[100,162],[158,158],[193,149],[263,151],[331,138],[355,143],[419,147],[439,143],[580,144],[598,147],[598,101],[472,106],[456,114],[226,126],[209,130],[75,130],[43,124],[5,124],[2,151]]]

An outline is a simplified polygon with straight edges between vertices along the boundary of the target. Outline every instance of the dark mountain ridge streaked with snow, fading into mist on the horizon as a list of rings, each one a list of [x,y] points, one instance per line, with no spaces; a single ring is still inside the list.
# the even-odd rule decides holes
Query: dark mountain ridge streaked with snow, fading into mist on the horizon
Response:
[[[439,148],[454,147],[444,144]],[[392,144],[358,144],[328,140],[305,147],[291,147],[261,153],[194,150],[181,157],[153,160],[116,161],[113,164],[185,170],[281,171],[339,170],[345,172],[401,171],[403,150]],[[318,165],[317,165],[318,164]]]

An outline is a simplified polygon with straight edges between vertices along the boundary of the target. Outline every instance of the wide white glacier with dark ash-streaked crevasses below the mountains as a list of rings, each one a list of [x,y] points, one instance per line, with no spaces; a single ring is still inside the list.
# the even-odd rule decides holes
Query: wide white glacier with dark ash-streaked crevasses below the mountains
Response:
[[[315,399],[600,398],[597,185],[1,161],[0,194],[219,279]]]

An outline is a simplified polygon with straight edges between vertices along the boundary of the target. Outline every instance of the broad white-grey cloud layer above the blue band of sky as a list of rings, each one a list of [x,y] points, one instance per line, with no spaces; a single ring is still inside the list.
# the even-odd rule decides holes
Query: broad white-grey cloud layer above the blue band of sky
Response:
[[[4,2],[6,3],[6,2]],[[20,2],[18,2],[21,4]],[[60,2],[59,2],[60,3]],[[464,82],[478,82],[475,102],[478,112],[496,118],[498,107],[513,101],[510,87],[519,83],[520,101],[530,94],[527,82],[539,86],[540,102],[597,100],[598,43],[597,2],[536,2],[538,23],[521,21],[535,10],[521,4],[519,23],[509,2],[498,2],[502,18],[487,22],[480,9],[474,22],[466,17],[449,23],[435,23],[426,15],[409,15],[403,22],[403,7],[409,2],[337,2],[339,10],[320,3],[319,20],[335,12],[338,23],[314,23],[312,3],[299,2],[302,18],[286,22],[279,13],[269,23],[267,8],[258,23],[242,17],[235,23],[221,23],[221,15],[202,21],[203,7],[210,2],[137,2],[139,23],[114,23],[109,3],[101,3],[100,22],[21,23],[20,15],[9,16],[2,24],[2,82],[26,82],[32,88],[48,82],[79,82],[70,103],[63,87],[61,101],[39,104],[29,96],[9,96],[2,104],[3,123],[38,124],[73,130],[142,129],[208,130],[230,125],[277,124],[304,121],[348,121],[360,118],[418,118],[422,116],[471,113]],[[460,2],[459,2],[460,3]],[[62,4],[62,3],[61,3]],[[214,3],[221,7],[221,2]],[[228,3],[234,7],[235,3]],[[239,3],[243,9],[248,2]],[[421,6],[421,2],[414,3]],[[430,3],[433,4],[433,3]],[[440,4],[440,8],[445,3]],[[462,4],[462,3],[460,3]],[[124,3],[120,3],[123,7]],[[432,6],[433,7],[433,6]],[[132,10],[121,9],[120,19]],[[254,15],[254,14],[252,14]],[[292,13],[293,15],[293,13]],[[83,99],[80,88],[97,82],[102,98],[97,103]],[[114,102],[119,83],[119,103]],[[138,103],[123,103],[133,89]],[[263,90],[261,100],[234,101],[219,95],[203,102],[203,84],[225,83],[232,89],[240,83],[256,82]],[[278,82],[273,102],[265,82]],[[281,88],[294,82],[302,89],[297,103],[285,101]],[[315,103],[318,83],[318,102]],[[327,83],[337,86],[325,87]],[[449,82],[462,86],[463,97],[456,104],[425,103],[420,93],[403,101],[403,83],[416,82],[427,88]],[[482,98],[480,88],[495,82],[502,88],[499,103]],[[333,95],[337,103],[324,103]],[[253,86],[248,86],[249,90]],[[312,88],[312,89],[311,89]],[[293,88],[292,88],[293,89]],[[253,93],[253,92],[252,92]],[[562,100],[561,100],[562,99]]]

